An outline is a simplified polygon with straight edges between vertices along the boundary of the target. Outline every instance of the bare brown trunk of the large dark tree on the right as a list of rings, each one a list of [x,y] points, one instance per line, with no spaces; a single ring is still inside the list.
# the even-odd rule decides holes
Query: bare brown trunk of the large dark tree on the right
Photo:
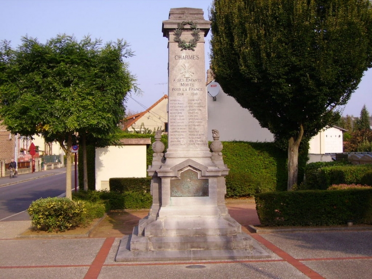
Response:
[[[291,137],[288,141],[288,184],[287,190],[292,190],[297,184],[297,176],[299,170],[299,147],[304,135],[304,128],[300,125],[300,133],[297,137]]]

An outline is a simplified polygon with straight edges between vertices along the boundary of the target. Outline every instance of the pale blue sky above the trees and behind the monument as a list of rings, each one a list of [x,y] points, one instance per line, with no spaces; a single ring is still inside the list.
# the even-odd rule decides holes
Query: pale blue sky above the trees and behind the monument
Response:
[[[28,35],[45,43],[57,34],[74,35],[78,40],[90,34],[103,42],[126,40],[134,57],[128,58],[130,71],[137,76],[143,94],[128,97],[126,107],[144,111],[167,94],[168,49],[162,21],[171,8],[199,8],[208,19],[211,0],[0,0],[0,40],[13,47]],[[206,38],[209,54],[210,32]],[[206,67],[209,62],[206,61]],[[343,115],[359,116],[365,104],[372,113],[372,70],[365,73]]]

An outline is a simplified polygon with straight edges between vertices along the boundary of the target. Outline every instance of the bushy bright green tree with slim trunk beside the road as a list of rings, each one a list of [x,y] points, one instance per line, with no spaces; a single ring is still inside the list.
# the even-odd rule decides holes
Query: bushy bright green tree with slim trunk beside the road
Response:
[[[108,144],[124,117],[127,92],[136,79],[123,58],[125,41],[81,41],[58,35],[45,44],[23,37],[12,49],[0,46],[0,119],[23,136],[41,134],[57,141],[67,155],[66,196],[71,198],[71,146],[89,135]]]

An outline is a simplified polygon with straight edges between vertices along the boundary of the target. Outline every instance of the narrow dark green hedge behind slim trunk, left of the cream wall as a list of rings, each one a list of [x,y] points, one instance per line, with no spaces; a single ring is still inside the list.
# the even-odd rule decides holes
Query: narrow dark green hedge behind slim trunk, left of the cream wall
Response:
[[[95,158],[96,158],[96,148],[93,145],[87,145],[88,190],[94,190],[96,188]],[[80,166],[78,167],[79,189],[84,189],[82,148],[78,149],[78,166]]]

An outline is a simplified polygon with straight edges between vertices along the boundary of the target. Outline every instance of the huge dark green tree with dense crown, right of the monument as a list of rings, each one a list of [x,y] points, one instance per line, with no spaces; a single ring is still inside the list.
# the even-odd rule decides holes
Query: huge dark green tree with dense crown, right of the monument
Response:
[[[339,118],[372,66],[368,0],[214,0],[211,68],[223,90],[288,143],[288,190],[298,150]]]

